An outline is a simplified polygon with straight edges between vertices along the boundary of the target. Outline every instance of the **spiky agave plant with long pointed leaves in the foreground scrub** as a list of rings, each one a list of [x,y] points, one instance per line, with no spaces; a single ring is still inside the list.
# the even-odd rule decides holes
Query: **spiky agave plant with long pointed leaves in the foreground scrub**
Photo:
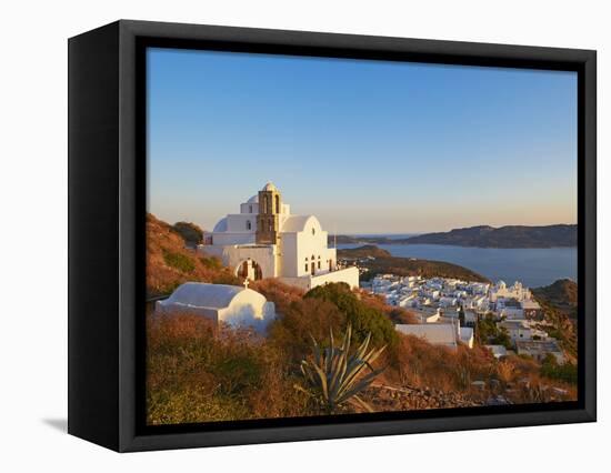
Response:
[[[343,336],[340,346],[335,346],[333,332],[330,332],[330,346],[322,348],[312,336],[313,360],[301,362],[301,373],[306,379],[307,388],[296,385],[296,389],[306,392],[321,403],[328,413],[334,412],[345,403],[355,404],[371,412],[371,407],[359,397],[358,393],[367,389],[384,369],[374,370],[372,363],[384,351],[368,351],[371,332],[360,346],[350,353],[352,328]],[[365,374],[365,369],[369,373]]]

